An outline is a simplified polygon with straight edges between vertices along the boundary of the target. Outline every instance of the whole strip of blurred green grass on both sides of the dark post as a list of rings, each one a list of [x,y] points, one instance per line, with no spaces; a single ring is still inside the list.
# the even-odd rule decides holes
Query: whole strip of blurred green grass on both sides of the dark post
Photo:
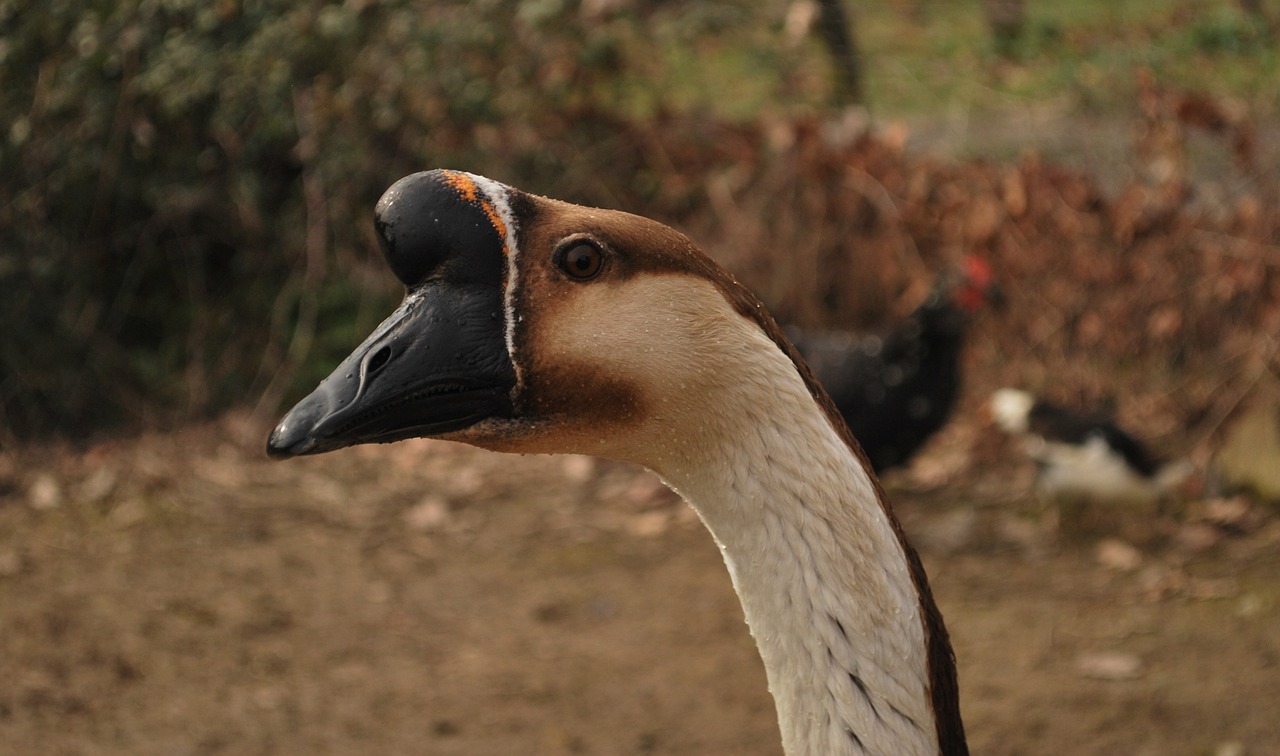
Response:
[[[1265,114],[1280,95],[1272,32],[1230,0],[1030,3],[1006,55],[997,54],[977,1],[920,3],[919,13],[901,3],[847,5],[868,102],[884,116],[1064,100],[1087,113],[1130,110],[1143,67],[1161,84],[1236,97]],[[746,119],[829,104],[829,60],[817,35],[787,46],[778,9],[719,18],[694,33],[677,18],[653,23],[632,46],[645,59],[628,67],[637,79],[630,91],[645,92],[646,107]]]

